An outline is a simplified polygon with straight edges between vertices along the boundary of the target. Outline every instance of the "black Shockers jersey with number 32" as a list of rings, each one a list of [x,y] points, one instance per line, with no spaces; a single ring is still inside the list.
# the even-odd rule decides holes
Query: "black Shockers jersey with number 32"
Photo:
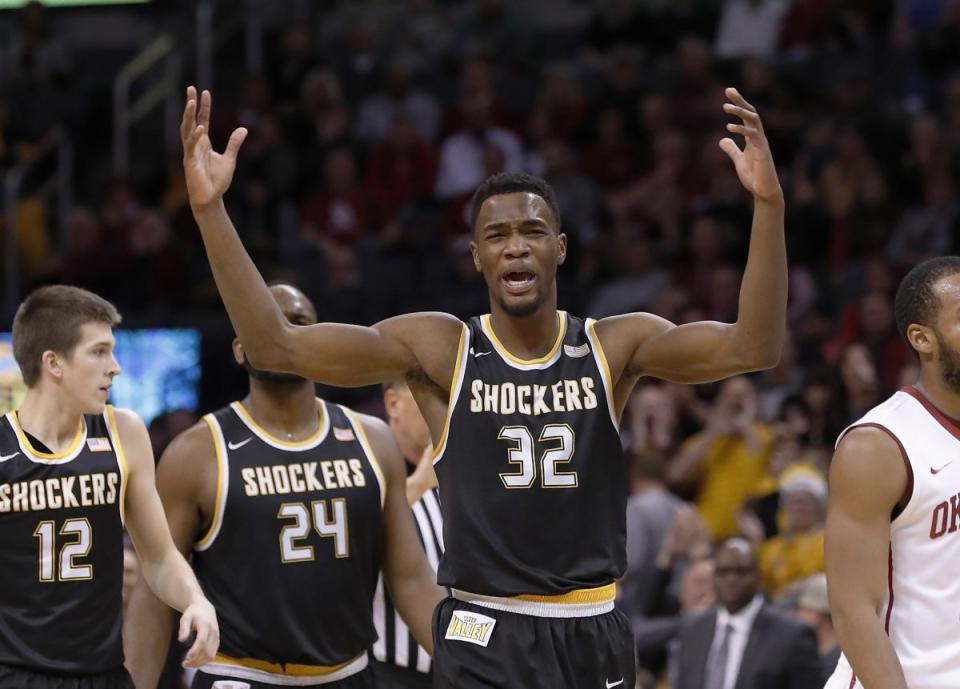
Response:
[[[512,356],[490,317],[460,341],[437,448],[441,584],[557,595],[626,568],[627,481],[610,374],[593,322],[558,312],[550,352]]]

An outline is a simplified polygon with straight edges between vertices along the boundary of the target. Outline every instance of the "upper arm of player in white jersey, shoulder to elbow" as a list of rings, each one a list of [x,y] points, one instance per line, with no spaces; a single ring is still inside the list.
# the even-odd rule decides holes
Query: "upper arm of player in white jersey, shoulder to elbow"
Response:
[[[878,428],[850,431],[830,467],[826,565],[831,605],[839,615],[887,595],[890,518],[907,486],[899,445]]]

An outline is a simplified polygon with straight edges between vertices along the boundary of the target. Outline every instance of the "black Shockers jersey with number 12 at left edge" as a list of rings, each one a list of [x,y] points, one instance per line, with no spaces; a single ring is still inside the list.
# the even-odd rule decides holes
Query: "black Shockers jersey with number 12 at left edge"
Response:
[[[0,663],[87,675],[123,665],[126,459],[113,408],[66,452],[0,420]]]

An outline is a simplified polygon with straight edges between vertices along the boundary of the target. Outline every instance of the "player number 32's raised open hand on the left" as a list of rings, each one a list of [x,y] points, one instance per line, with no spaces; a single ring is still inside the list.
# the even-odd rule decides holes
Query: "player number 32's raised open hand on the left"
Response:
[[[183,173],[190,205],[194,209],[217,203],[230,186],[237,167],[237,152],[247,138],[243,127],[234,130],[223,153],[210,144],[210,92],[204,91],[198,104],[197,89],[187,87],[187,105],[180,122],[183,143]]]

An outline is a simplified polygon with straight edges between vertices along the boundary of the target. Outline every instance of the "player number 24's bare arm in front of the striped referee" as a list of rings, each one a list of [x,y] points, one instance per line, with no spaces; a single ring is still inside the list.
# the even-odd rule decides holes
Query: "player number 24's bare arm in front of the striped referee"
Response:
[[[362,416],[361,422],[387,482],[383,508],[387,535],[384,583],[417,643],[433,655],[433,610],[446,596],[446,590],[437,585],[413,525],[413,513],[407,504],[405,460],[390,427],[372,416]]]

